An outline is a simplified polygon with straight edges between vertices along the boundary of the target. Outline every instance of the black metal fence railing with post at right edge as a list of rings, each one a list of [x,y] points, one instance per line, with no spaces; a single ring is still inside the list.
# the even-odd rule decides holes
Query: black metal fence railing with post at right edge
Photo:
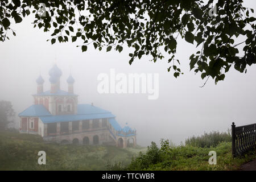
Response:
[[[232,155],[243,155],[256,146],[256,123],[238,126],[232,123]]]

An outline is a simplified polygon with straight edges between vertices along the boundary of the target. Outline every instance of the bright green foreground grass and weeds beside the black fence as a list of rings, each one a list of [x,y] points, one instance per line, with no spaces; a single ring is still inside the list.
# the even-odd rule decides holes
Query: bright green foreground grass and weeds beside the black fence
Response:
[[[158,148],[154,142],[146,154],[133,159],[127,170],[237,170],[241,164],[255,159],[255,151],[233,158],[231,142],[221,142],[216,147],[177,146],[170,147],[168,140],[162,140]],[[210,165],[209,151],[216,151],[217,164]]]

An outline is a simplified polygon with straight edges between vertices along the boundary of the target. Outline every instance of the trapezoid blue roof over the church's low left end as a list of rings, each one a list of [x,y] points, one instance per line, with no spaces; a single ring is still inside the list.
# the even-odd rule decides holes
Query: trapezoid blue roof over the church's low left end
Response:
[[[19,116],[27,116],[27,117],[34,117],[34,116],[45,116],[51,115],[49,111],[43,105],[32,105],[28,107],[26,110],[19,113]]]

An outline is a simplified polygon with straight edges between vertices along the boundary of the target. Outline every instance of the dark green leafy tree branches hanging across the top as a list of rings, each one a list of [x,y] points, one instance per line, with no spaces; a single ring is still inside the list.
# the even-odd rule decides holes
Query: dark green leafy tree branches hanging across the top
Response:
[[[121,52],[123,44],[134,49],[129,63],[150,55],[151,61],[169,54],[168,71],[174,76],[182,72],[175,59],[177,38],[195,44],[199,51],[190,57],[190,68],[201,78],[211,76],[217,83],[224,80],[230,67],[246,73],[246,66],[255,64],[256,18],[253,9],[243,7],[242,0],[217,1],[217,13],[210,16],[213,0],[3,0],[0,2],[0,40],[5,41],[11,30],[11,19],[22,22],[31,11],[34,27],[50,31],[51,43],[82,40],[82,51],[89,44],[95,49],[106,47]],[[42,4],[44,3],[44,4]],[[45,5],[45,6],[44,6]],[[42,10],[46,10],[43,12]],[[77,27],[76,30],[74,27]],[[15,32],[13,31],[15,35]],[[241,36],[243,41],[238,41]],[[240,38],[239,38],[240,39]],[[242,46],[239,51],[237,46]]]

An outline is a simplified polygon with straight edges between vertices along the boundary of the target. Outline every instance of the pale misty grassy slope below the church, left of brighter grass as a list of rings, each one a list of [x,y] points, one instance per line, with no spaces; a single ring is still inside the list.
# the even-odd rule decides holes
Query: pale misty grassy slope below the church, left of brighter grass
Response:
[[[0,170],[104,170],[110,164],[126,166],[142,147],[74,146],[44,143],[36,135],[0,132]],[[38,164],[38,151],[46,152],[46,165]]]

